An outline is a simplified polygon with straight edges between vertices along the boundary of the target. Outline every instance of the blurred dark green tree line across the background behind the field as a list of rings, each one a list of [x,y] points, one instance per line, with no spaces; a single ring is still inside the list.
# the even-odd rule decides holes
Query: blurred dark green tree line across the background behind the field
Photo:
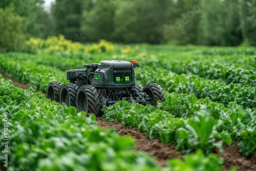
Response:
[[[0,46],[10,32],[16,41],[62,34],[81,42],[256,46],[256,0],[56,0],[50,12],[43,5],[2,0]]]

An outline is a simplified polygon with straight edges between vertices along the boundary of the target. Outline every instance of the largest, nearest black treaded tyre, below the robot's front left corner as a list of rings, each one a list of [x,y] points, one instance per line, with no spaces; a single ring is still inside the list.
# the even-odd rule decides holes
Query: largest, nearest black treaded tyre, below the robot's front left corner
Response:
[[[94,113],[96,116],[101,115],[100,112],[100,96],[93,86],[82,86],[77,92],[77,112],[85,111],[86,113]]]

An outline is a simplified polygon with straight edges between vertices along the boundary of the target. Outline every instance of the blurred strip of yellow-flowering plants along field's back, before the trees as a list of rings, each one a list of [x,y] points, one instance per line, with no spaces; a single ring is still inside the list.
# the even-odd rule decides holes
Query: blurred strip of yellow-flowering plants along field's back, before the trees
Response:
[[[72,42],[65,39],[64,36],[48,37],[46,40],[31,38],[26,42],[26,48],[28,52],[35,53],[53,53],[61,55],[69,55],[67,57],[83,56],[83,54],[94,54],[98,56],[101,53],[108,55],[129,55],[136,56],[136,54],[147,53],[150,55],[156,55],[158,58],[162,56],[178,59],[182,57],[186,60],[205,60],[218,58],[218,61],[225,62],[230,61],[232,63],[246,64],[248,66],[255,66],[255,48],[250,47],[177,47],[170,45],[146,45],[146,44],[134,44],[134,45],[121,45],[112,44],[105,40],[100,40],[98,44],[82,45],[78,42]],[[25,50],[26,50],[25,48]],[[105,55],[104,54],[104,55]],[[105,55],[106,56],[106,55]],[[184,61],[184,60],[183,60]]]

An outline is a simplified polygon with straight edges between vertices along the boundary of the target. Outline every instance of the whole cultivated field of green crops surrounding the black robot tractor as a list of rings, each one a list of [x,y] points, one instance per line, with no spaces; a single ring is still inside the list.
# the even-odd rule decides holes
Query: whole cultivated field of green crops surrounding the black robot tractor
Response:
[[[94,115],[86,117],[46,99],[48,83],[67,82],[66,70],[106,59],[137,59],[141,67],[135,69],[136,81],[160,84],[165,101],[158,106],[120,101],[105,106],[97,120],[121,123],[158,143],[174,145],[173,153],[182,160],[165,158],[159,165],[146,152],[134,151],[132,137],[102,129]],[[59,36],[31,39],[24,52],[0,53],[0,72],[40,91],[23,90],[0,77],[0,129],[4,132],[6,121],[8,170],[256,169],[255,48],[118,45],[104,40],[81,45]],[[3,143],[0,147],[5,148]]]

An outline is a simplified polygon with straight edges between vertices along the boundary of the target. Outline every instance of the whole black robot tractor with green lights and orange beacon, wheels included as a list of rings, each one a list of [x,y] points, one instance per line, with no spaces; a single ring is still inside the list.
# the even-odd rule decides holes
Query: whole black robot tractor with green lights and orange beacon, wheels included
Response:
[[[97,116],[104,105],[109,106],[122,99],[157,105],[158,100],[165,98],[158,84],[147,83],[142,87],[136,83],[134,68],[139,67],[137,60],[102,60],[84,67],[86,69],[67,71],[70,83],[49,83],[47,98],[74,105],[77,112],[86,111]]]

